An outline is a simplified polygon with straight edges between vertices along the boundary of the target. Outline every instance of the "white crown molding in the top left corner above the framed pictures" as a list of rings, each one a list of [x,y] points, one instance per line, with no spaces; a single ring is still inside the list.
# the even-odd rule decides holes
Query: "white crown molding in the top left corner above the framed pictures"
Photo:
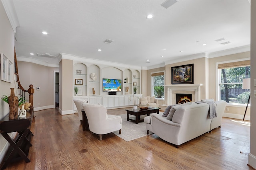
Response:
[[[1,0],[4,10],[6,12],[6,15],[10,21],[10,24],[12,25],[12,29],[14,33],[16,33],[16,27],[20,26],[18,16],[16,14],[16,10],[14,8],[14,4],[12,0]]]

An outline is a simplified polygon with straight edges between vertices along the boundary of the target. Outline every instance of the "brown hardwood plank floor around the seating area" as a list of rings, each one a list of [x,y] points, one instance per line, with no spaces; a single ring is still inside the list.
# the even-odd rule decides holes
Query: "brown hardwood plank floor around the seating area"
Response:
[[[124,108],[108,110],[125,113]],[[223,118],[221,128],[177,149],[154,134],[126,142],[109,133],[99,141],[82,131],[77,113],[60,115],[58,108],[36,111],[35,116],[31,162],[21,160],[6,170],[252,170],[247,166],[249,121]]]

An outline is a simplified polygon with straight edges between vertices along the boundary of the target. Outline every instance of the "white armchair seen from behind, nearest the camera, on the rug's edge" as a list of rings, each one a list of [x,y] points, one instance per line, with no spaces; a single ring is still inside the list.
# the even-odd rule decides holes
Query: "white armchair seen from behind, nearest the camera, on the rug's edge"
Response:
[[[121,134],[121,116],[108,115],[106,107],[102,105],[83,103],[82,106],[88,119],[90,131],[100,135],[100,140],[102,140],[102,135],[117,130]]]

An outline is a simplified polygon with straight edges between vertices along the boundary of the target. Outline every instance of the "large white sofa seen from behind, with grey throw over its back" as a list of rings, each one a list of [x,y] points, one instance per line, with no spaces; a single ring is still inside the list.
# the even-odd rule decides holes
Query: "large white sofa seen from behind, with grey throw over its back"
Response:
[[[165,141],[179,145],[190,141],[216,127],[220,127],[226,107],[225,101],[216,101],[217,117],[209,119],[209,104],[191,104],[179,107],[172,120],[162,114],[152,114],[144,118],[147,132],[152,131]]]

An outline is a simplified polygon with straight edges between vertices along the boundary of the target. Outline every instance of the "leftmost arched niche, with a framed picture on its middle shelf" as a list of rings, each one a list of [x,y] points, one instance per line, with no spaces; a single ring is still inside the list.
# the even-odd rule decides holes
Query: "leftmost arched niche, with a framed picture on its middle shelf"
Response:
[[[87,90],[87,66],[83,63],[74,64],[74,88],[78,88],[74,96],[86,96]]]

